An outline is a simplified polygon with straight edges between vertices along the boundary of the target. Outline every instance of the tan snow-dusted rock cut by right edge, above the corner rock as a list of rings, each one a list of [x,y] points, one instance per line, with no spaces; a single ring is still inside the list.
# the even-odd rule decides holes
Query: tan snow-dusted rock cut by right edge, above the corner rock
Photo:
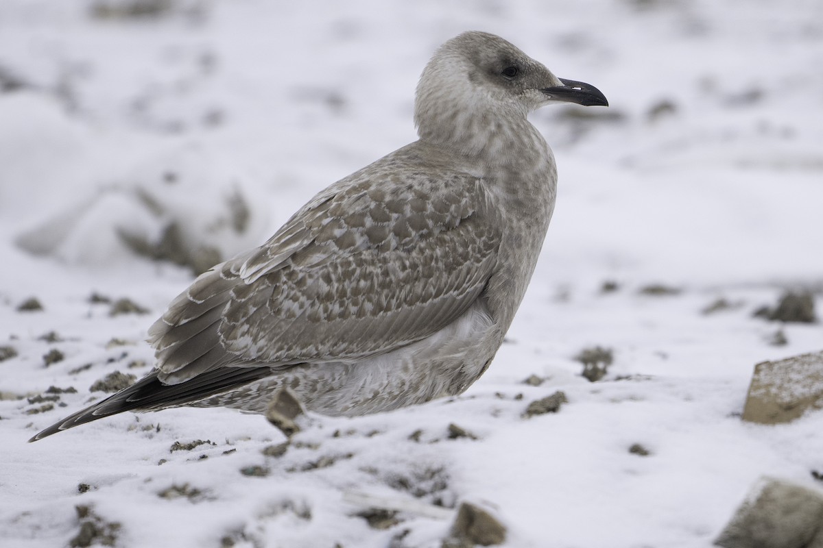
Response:
[[[823,351],[763,361],[751,377],[743,420],[760,424],[793,421],[823,408]]]

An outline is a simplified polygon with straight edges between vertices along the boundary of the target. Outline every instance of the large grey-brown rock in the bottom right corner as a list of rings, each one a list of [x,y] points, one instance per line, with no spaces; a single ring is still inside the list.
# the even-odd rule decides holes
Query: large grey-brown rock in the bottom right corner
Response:
[[[723,548],[820,548],[823,493],[761,478],[714,544]]]

